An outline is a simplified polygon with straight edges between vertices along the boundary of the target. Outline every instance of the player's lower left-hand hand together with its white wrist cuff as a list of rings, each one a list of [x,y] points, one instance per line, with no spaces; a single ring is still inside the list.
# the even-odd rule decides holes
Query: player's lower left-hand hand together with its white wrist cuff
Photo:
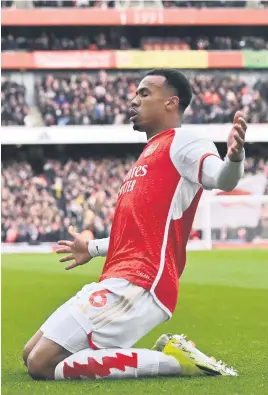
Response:
[[[60,262],[69,262],[66,270],[84,265],[96,256],[106,256],[109,247],[109,238],[100,240],[85,240],[80,233],[73,231],[69,227],[68,233],[73,237],[73,241],[60,240],[57,244],[57,254],[68,254],[60,259]]]

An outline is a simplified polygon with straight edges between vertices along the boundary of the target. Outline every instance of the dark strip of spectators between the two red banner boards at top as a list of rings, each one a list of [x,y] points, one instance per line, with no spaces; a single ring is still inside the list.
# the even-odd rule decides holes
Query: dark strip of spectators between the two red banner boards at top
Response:
[[[104,49],[143,49],[143,50],[265,50],[268,49],[267,37],[241,36],[239,38],[215,37],[180,37],[174,31],[174,37],[150,37],[137,40],[131,33],[121,34],[120,29],[111,29],[92,37],[91,34],[60,37],[51,31],[45,31],[37,37],[1,35],[1,51],[72,51]],[[138,42],[137,42],[138,41]]]

